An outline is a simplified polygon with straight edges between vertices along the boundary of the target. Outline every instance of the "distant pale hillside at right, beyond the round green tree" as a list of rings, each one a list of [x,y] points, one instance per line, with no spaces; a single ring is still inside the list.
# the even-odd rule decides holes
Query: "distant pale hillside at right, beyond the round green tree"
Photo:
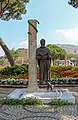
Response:
[[[70,45],[70,44],[56,44],[57,46],[64,49],[68,54],[78,54],[78,46],[76,45]]]

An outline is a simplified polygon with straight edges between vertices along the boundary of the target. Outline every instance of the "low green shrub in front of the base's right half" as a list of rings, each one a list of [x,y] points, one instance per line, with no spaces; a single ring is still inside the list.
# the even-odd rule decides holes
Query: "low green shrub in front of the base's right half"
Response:
[[[49,103],[49,105],[57,105],[57,106],[72,105],[72,104],[73,103],[69,103],[67,100],[57,99],[57,98],[52,99],[51,102]]]

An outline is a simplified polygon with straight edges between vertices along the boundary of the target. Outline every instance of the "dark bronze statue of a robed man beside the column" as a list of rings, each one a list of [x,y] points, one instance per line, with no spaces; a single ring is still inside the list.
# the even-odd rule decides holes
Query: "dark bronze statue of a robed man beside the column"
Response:
[[[45,47],[44,39],[40,40],[40,44],[41,46],[36,50],[36,59],[40,71],[40,84],[43,84],[50,80],[51,53],[50,50]]]

